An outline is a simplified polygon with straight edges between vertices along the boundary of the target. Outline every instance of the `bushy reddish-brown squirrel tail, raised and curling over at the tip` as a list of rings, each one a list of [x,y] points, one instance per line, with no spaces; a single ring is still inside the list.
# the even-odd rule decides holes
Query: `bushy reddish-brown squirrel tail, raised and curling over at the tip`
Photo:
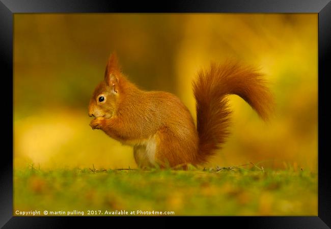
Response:
[[[266,121],[273,109],[273,97],[266,81],[253,67],[227,62],[212,63],[208,70],[201,70],[193,82],[197,101],[197,129],[199,133],[198,163],[207,162],[209,156],[220,149],[229,135],[230,120],[227,95],[235,94],[244,99]]]

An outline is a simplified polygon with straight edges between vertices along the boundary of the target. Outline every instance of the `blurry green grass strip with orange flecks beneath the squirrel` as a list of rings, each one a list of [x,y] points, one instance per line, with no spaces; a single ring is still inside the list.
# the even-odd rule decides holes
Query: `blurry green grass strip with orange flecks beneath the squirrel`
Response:
[[[317,215],[317,175],[257,166],[188,171],[30,167],[14,171],[14,215],[16,210]]]

